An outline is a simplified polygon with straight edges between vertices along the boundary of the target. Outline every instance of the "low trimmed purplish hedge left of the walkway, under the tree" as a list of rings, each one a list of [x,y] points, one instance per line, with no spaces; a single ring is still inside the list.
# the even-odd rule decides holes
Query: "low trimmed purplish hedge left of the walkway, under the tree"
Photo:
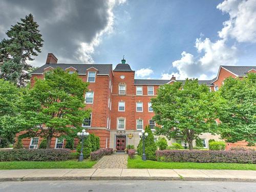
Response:
[[[68,149],[1,150],[0,161],[66,161],[69,154]]]

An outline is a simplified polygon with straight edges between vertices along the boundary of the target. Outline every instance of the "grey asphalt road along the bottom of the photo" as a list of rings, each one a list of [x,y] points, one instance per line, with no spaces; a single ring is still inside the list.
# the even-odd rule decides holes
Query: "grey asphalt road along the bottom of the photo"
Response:
[[[0,191],[256,191],[256,183],[218,181],[14,181],[0,182]]]

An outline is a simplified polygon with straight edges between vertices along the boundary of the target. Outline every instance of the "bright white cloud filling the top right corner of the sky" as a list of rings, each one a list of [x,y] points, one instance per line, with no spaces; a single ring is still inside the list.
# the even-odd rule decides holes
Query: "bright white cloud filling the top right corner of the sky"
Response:
[[[217,8],[230,17],[219,31],[221,38],[230,36],[238,42],[256,42],[256,0],[226,0]]]

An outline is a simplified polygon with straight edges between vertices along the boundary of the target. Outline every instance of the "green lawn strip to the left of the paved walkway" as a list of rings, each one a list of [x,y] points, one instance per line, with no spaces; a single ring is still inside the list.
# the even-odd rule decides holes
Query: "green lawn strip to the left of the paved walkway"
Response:
[[[91,168],[97,161],[12,161],[0,162],[0,169],[34,169],[34,168]]]

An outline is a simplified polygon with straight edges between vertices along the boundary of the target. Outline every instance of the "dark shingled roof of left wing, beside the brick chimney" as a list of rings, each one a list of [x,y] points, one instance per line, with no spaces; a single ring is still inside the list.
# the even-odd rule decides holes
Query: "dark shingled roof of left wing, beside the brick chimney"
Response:
[[[112,70],[112,64],[67,64],[67,63],[50,63],[41,66],[32,72],[32,74],[36,73],[44,73],[44,69],[52,67],[52,68],[61,68],[63,70],[73,67],[77,70],[78,74],[86,74],[86,70],[94,67],[98,70],[98,74],[110,74]]]

